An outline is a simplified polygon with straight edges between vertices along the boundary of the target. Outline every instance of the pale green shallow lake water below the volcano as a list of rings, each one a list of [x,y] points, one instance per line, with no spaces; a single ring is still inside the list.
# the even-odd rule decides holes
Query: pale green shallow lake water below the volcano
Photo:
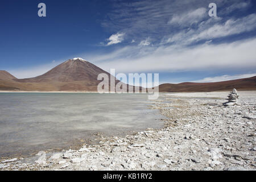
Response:
[[[0,93],[0,157],[67,148],[97,132],[159,128],[147,94]]]

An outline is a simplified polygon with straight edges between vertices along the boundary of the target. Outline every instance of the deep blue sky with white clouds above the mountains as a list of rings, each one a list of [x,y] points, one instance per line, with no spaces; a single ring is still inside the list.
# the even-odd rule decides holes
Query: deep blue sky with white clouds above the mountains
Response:
[[[73,57],[108,72],[159,73],[160,83],[256,75],[255,1],[2,0],[0,23],[0,69],[18,78]]]

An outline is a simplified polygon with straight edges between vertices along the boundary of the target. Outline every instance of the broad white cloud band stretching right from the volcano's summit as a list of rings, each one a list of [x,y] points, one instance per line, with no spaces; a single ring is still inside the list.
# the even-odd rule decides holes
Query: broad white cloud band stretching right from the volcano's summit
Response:
[[[218,45],[203,44],[192,48],[134,46],[119,50],[118,53],[101,55],[101,60],[97,56],[95,59],[98,60],[97,65],[106,71],[115,68],[117,72],[124,73],[256,69],[255,47],[256,38]],[[94,60],[93,57],[91,59]]]

